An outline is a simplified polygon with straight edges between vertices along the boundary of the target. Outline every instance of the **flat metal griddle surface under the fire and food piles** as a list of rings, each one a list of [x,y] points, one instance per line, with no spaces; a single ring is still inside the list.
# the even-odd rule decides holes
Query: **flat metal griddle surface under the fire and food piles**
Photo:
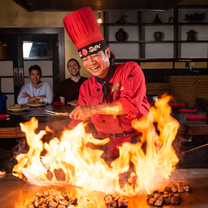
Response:
[[[192,191],[190,193],[182,193],[182,202],[180,205],[163,205],[163,208],[175,208],[176,206],[178,208],[208,208],[208,169],[177,169],[172,173],[170,181],[189,183]],[[49,188],[58,189],[63,192],[67,191],[73,196],[81,193],[80,201],[78,201],[78,206],[76,206],[77,208],[105,208],[104,193],[84,193],[82,189],[70,186],[40,187],[30,185],[12,176],[12,174],[6,174],[5,177],[0,178],[0,207],[17,208],[19,205],[24,204],[26,198],[32,199],[37,192],[42,192]],[[99,205],[96,202],[97,199],[100,202]],[[154,208],[147,204],[145,195],[128,198],[128,200],[129,208]],[[82,203],[79,203],[81,201]]]

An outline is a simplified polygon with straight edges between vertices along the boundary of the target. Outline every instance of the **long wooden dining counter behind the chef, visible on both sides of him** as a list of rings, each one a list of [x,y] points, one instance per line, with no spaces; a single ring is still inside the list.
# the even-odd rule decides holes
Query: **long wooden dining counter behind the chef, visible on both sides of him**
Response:
[[[70,113],[75,107],[72,105],[55,106],[43,105],[39,107],[30,107],[26,110],[11,111],[8,110],[8,118],[0,118],[0,139],[1,138],[18,138],[25,136],[21,131],[20,123],[25,123],[35,117],[38,120],[38,128],[36,131],[44,130],[46,126],[53,130],[64,130],[71,121],[65,115],[47,114],[45,110],[53,112]],[[197,112],[180,112],[184,107],[171,106],[171,116],[176,119],[180,126],[178,134],[183,135],[208,135],[208,124],[206,119],[187,120],[186,116],[202,116],[206,115],[206,111],[196,106],[186,103],[185,109],[196,109]]]

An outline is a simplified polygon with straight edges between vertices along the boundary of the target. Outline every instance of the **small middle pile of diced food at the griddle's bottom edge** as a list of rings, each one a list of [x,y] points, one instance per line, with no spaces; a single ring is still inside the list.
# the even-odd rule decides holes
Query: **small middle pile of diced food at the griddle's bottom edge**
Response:
[[[108,208],[126,208],[128,207],[128,201],[123,197],[108,194],[104,197],[105,204]]]

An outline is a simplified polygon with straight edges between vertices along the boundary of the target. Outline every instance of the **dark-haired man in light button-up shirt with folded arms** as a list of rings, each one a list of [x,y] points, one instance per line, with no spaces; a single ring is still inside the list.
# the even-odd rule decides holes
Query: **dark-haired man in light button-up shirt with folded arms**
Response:
[[[41,68],[38,65],[31,66],[29,68],[30,83],[22,86],[18,97],[18,104],[27,103],[45,103],[51,104],[53,102],[53,90],[49,83],[42,82]]]

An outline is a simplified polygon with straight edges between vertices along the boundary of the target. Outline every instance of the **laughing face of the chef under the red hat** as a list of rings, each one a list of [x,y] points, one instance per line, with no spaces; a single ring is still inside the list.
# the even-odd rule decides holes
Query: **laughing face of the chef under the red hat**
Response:
[[[110,68],[110,49],[99,51],[82,59],[84,67],[93,76],[105,78]]]

